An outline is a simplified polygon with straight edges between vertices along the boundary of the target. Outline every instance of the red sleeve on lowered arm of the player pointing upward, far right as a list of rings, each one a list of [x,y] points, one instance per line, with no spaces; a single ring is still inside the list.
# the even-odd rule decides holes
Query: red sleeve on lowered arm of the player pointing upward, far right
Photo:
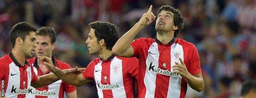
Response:
[[[189,65],[190,68],[188,71],[192,74],[195,75],[199,72],[201,72],[201,64],[200,64],[200,59],[199,59],[199,53],[197,51],[197,48],[195,45],[192,45],[190,49],[190,59],[189,59]]]

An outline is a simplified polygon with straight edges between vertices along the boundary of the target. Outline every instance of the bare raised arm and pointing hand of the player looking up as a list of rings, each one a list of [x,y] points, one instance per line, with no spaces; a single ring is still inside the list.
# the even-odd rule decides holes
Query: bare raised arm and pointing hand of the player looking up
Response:
[[[126,32],[114,45],[112,52],[117,56],[122,57],[131,57],[133,56],[133,47],[130,43],[133,41],[135,36],[141,31],[144,27],[151,24],[155,17],[151,12],[152,5],[149,7],[148,12],[144,13],[139,22],[137,22],[128,32]]]

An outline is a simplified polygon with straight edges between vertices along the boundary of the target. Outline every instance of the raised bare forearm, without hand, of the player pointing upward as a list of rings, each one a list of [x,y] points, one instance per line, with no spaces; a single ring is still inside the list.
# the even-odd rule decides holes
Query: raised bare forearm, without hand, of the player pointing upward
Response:
[[[135,36],[144,28],[144,26],[139,25],[139,23],[136,23],[128,32],[126,32],[114,45],[112,48],[112,52],[116,54],[117,56],[120,56],[123,54],[123,52],[128,49],[130,46],[130,43],[133,41]]]

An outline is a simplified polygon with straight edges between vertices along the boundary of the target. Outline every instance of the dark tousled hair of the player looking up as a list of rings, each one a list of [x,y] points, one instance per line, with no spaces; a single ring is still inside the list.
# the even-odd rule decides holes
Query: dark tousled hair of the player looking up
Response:
[[[172,13],[174,13],[174,25],[178,27],[178,29],[176,31],[174,31],[174,37],[176,37],[178,35],[178,33],[181,31],[181,29],[183,29],[183,27],[184,27],[184,18],[182,16],[181,11],[178,9],[175,9],[174,7],[171,7],[169,5],[163,5],[158,10],[158,14],[162,10],[171,11]]]

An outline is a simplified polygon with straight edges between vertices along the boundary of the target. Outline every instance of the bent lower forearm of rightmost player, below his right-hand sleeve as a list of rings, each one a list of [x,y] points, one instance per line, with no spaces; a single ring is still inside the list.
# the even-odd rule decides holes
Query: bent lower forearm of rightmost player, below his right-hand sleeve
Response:
[[[198,92],[200,92],[200,91],[202,91],[202,90],[204,89],[203,78],[195,77],[195,76],[192,76],[192,75],[190,74],[190,77],[187,78],[186,81],[187,81],[188,85],[189,85],[192,89],[194,89],[194,90],[196,90],[196,91],[198,91]]]

